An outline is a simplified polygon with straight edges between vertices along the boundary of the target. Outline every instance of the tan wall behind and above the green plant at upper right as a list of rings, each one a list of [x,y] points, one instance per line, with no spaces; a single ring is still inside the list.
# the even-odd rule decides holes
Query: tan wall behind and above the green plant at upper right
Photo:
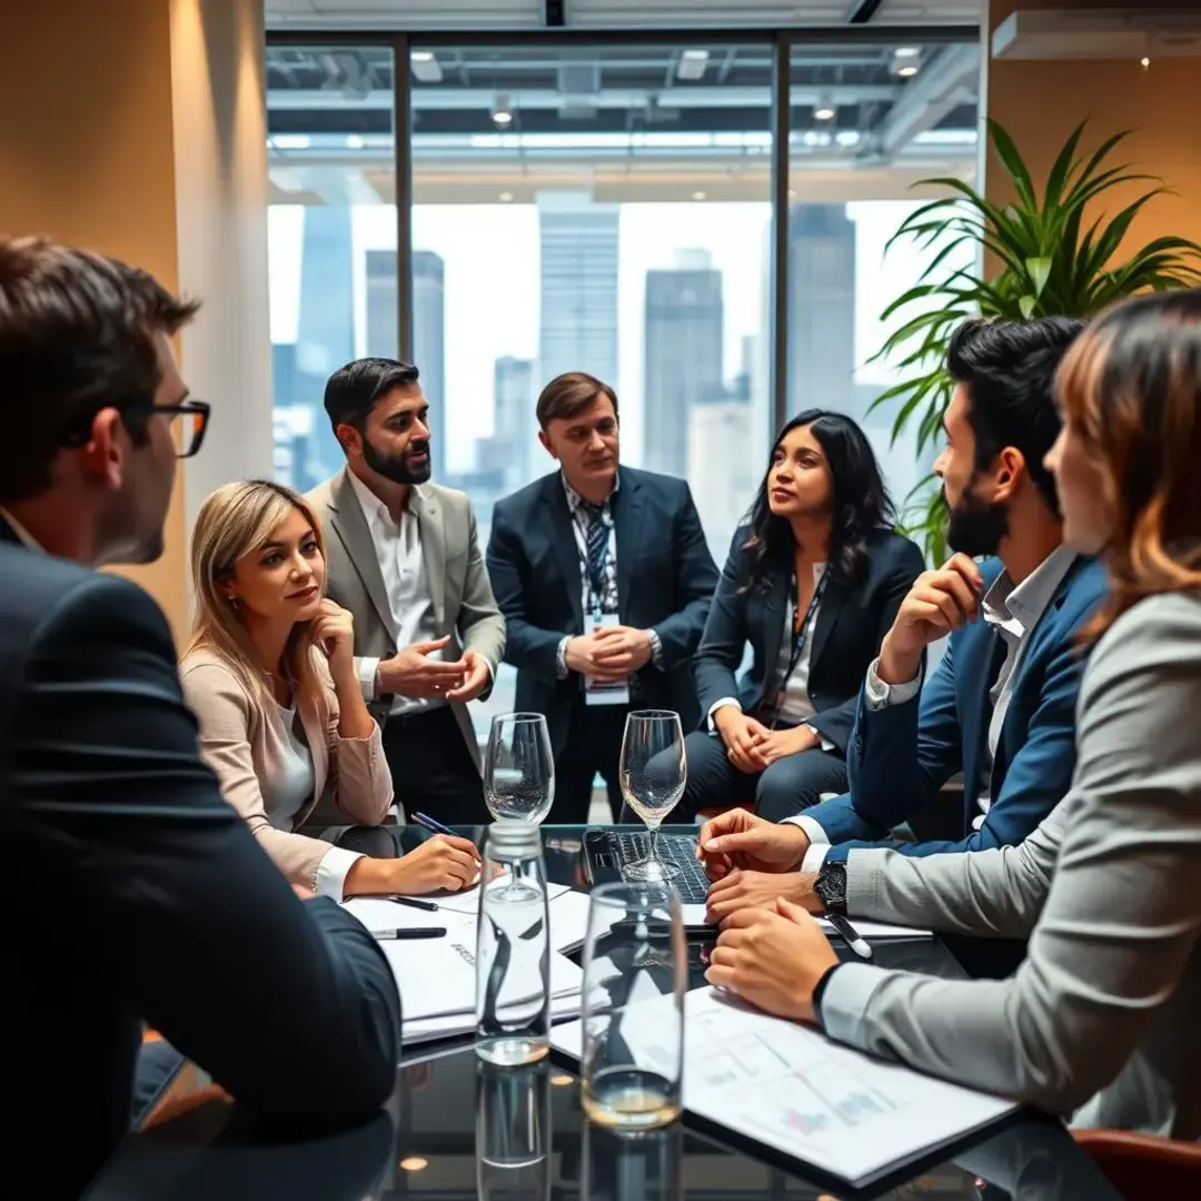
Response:
[[[991,0],[990,31],[1015,10],[1137,7],[1137,0]],[[1171,7],[1159,4],[1157,7]],[[1178,195],[1152,202],[1130,228],[1127,245],[1139,245],[1161,234],[1181,234],[1201,241],[1201,59],[1153,59],[1143,68],[1137,59],[1124,61],[1059,60],[1009,61],[993,59],[987,70],[987,113],[1012,135],[1036,183],[1047,171],[1064,139],[1088,120],[1085,147],[1091,149],[1112,133],[1133,130],[1119,148],[1119,162],[1131,162],[1160,175]],[[1143,185],[1146,186],[1146,185]],[[990,156],[986,189],[993,198],[1008,199],[997,162]],[[1106,209],[1137,195],[1137,185],[1115,191]]]

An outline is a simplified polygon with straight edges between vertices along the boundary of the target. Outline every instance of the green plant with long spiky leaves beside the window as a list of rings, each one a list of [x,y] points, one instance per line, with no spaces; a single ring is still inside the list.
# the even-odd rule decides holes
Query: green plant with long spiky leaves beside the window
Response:
[[[918,283],[882,313],[882,321],[894,313],[904,315],[904,321],[871,360],[896,359],[904,372],[902,382],[871,406],[897,406],[894,442],[916,425],[920,455],[938,436],[955,387],[946,371],[945,347],[951,331],[966,318],[1087,317],[1139,292],[1201,282],[1201,246],[1187,238],[1154,238],[1116,261],[1134,219],[1169,190],[1161,179],[1133,172],[1129,163],[1109,165],[1129,130],[1115,133],[1091,155],[1077,156],[1085,124],[1064,143],[1041,196],[1014,141],[992,120],[988,135],[1016,196],[1012,204],[988,201],[960,179],[922,180],[951,195],[910,214],[889,239],[885,252],[902,238],[913,238],[922,247],[938,243],[939,250]],[[1141,181],[1149,186],[1117,214],[1098,214],[1097,204],[1106,192]],[[976,265],[939,277],[938,269],[948,256],[966,244],[978,250]],[[993,274],[987,275],[990,269]],[[933,563],[946,557],[945,526],[942,488],[927,476],[906,501],[906,528],[922,537]]]

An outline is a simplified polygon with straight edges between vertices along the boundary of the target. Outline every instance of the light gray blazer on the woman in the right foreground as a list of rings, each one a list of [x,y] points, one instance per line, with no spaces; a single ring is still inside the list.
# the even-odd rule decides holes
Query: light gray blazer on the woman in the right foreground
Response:
[[[1199,722],[1201,597],[1151,597],[1091,655],[1071,790],[1026,842],[848,859],[852,914],[1029,936],[1026,961],[998,981],[846,964],[826,1032],[1075,1125],[1201,1136]]]

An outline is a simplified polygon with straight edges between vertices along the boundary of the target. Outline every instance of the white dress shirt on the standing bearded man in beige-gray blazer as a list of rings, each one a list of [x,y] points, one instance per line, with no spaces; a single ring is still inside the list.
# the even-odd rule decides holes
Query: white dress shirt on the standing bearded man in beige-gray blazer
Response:
[[[393,521],[388,506],[348,471],[351,488],[358,497],[371,531],[383,588],[388,597],[388,633],[393,645],[402,651],[414,643],[432,643],[437,638],[434,622],[434,597],[425,578],[425,560],[422,557],[422,530],[417,514],[406,509],[400,521]],[[431,652],[428,658],[441,659],[442,651]],[[359,683],[366,700],[375,700],[375,677],[380,667],[377,658],[360,658]],[[396,695],[390,713],[416,713],[434,709],[446,701],[428,697]]]

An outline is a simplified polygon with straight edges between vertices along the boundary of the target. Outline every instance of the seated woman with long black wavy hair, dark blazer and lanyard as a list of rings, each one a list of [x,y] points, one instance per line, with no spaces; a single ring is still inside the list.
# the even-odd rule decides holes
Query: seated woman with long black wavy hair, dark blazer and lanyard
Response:
[[[781,430],[697,652],[704,725],[687,740],[689,813],[754,801],[779,820],[847,789],[860,686],[922,570],[894,521],[849,417],[812,408]],[[747,644],[753,662],[736,680]]]

